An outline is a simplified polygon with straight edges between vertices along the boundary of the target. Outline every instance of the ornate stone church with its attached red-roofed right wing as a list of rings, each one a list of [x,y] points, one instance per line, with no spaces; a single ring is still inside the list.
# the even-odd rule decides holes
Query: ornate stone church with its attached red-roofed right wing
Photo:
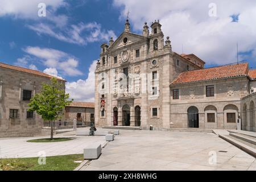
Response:
[[[142,35],[129,20],[117,40],[101,46],[95,71],[98,126],[154,130],[198,127],[255,131],[256,71],[247,63],[204,68],[194,54],[172,51],[159,21]]]

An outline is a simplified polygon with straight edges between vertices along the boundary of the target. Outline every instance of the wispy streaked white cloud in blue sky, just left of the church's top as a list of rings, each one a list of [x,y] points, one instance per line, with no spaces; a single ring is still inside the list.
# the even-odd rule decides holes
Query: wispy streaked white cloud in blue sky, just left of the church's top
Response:
[[[116,38],[114,31],[104,30],[101,24],[79,23],[72,24],[70,27],[60,28],[49,23],[39,23],[28,25],[28,28],[35,31],[38,35],[48,35],[63,42],[85,45],[87,43],[108,41],[110,37]]]

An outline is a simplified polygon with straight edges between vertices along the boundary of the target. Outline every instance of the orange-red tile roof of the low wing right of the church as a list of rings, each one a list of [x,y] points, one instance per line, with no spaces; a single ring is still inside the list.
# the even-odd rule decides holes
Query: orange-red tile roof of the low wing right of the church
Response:
[[[171,85],[197,81],[217,80],[221,78],[248,76],[248,72],[248,63],[197,69],[194,71],[180,73],[180,75],[171,83]]]

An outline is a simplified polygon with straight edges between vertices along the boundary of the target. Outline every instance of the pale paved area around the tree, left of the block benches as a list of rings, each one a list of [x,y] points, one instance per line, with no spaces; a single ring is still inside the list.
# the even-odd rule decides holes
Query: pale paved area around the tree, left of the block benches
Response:
[[[0,158],[30,158],[38,157],[38,152],[46,152],[46,156],[83,154],[86,146],[93,143],[106,143],[105,136],[76,136],[75,132],[58,134],[54,137],[72,137],[73,140],[52,143],[32,143],[27,140],[47,138],[44,137],[22,137],[22,138],[1,138]],[[49,136],[48,136],[49,137]]]

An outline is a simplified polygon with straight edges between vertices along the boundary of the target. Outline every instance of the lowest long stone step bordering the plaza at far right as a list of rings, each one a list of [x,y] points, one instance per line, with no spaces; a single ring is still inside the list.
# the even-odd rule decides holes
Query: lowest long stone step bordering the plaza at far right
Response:
[[[247,154],[250,154],[254,158],[256,158],[256,149],[248,146],[245,142],[239,142],[236,139],[233,139],[229,135],[218,135],[220,138],[226,140],[227,142],[233,144],[234,146],[240,148],[242,151],[245,151]]]

